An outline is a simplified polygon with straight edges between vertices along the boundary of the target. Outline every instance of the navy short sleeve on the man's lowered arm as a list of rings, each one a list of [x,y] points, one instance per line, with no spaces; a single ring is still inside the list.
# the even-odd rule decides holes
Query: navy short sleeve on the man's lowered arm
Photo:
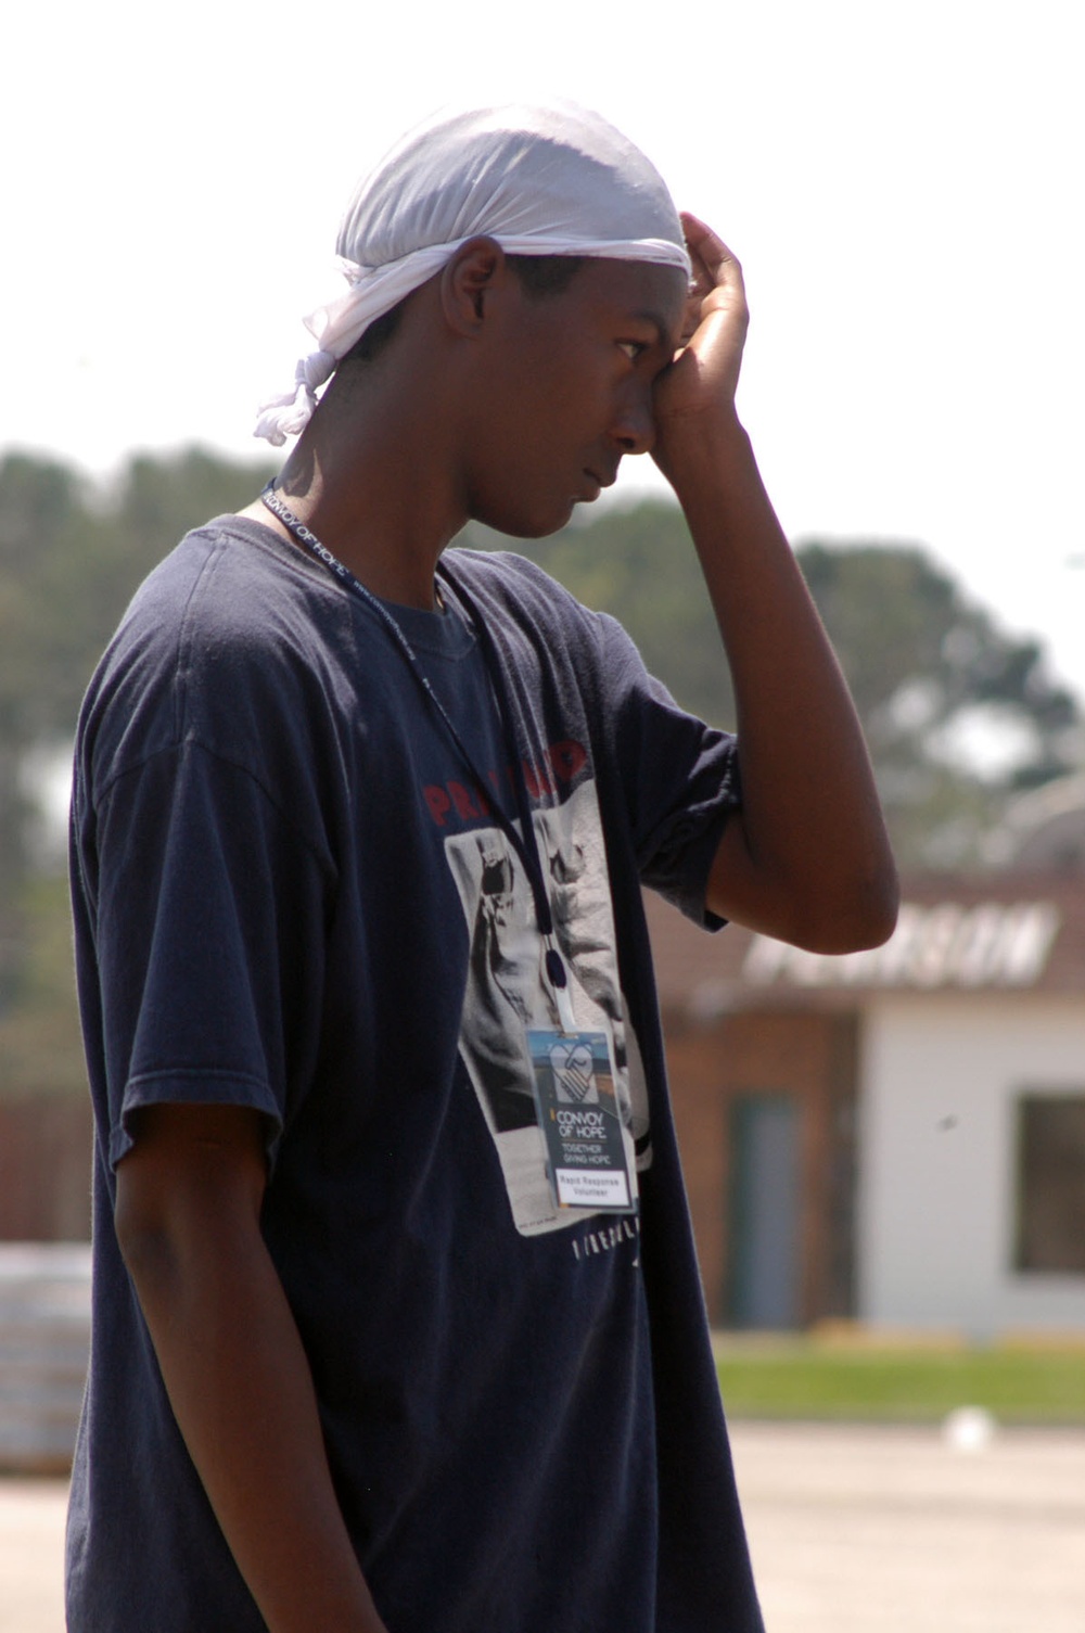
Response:
[[[111,1164],[131,1114],[170,1101],[261,1112],[275,1156],[320,1011],[325,880],[304,836],[190,740],[109,785],[93,857]]]

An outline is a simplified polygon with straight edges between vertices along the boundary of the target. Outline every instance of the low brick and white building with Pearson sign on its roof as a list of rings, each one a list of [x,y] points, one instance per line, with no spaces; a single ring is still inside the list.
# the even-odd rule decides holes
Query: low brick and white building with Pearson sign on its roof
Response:
[[[1085,1331],[1082,872],[907,880],[846,957],[649,918],[714,1323]]]

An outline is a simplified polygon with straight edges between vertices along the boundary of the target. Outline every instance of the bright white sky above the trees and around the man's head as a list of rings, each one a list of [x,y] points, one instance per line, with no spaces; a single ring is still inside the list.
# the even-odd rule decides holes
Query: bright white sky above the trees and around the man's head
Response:
[[[1080,0],[21,5],[0,449],[261,452],[356,175],[453,96],[538,87],[742,258],[789,536],[928,545],[1085,694],[1083,36]]]

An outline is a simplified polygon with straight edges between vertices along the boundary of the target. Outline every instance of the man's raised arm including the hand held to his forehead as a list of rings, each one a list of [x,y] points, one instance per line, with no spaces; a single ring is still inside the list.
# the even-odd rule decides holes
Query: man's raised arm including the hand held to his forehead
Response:
[[[696,217],[686,345],[655,390],[654,456],[690,523],[730,660],[742,812],[708,906],[817,952],[892,932],[897,875],[863,733],[735,413],[742,271]]]

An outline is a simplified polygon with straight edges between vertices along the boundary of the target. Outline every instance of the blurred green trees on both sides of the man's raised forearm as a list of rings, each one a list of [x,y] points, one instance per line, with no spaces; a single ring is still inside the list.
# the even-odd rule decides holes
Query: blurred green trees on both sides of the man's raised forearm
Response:
[[[685,707],[734,725],[675,505],[613,508],[538,544],[497,542],[613,612]],[[1074,696],[1049,679],[1038,640],[1000,630],[918,545],[809,541],[796,554],[851,686],[900,862],[977,861],[1013,792],[1077,769]]]

